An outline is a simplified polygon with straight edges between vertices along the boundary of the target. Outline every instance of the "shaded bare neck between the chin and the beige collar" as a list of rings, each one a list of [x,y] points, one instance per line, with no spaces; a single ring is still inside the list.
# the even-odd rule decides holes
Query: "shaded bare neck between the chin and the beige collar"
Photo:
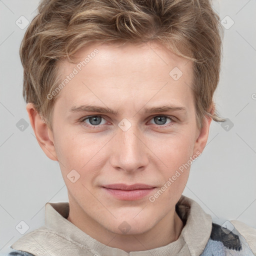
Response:
[[[70,202],[67,220],[97,241],[126,252],[149,250],[167,245],[177,240],[183,228],[183,223],[174,209],[153,228],[138,234],[113,233],[88,216],[78,205]]]

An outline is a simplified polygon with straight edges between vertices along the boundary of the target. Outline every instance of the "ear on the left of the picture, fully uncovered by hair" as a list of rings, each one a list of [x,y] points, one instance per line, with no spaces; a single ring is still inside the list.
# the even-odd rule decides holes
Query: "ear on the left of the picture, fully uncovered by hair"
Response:
[[[27,103],[26,111],[41,149],[51,160],[57,161],[52,130],[42,120],[32,103]]]

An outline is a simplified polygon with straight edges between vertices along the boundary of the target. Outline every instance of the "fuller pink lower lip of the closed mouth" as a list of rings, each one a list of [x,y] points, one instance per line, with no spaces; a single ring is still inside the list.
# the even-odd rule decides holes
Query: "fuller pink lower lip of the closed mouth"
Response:
[[[148,195],[154,188],[119,190],[103,187],[106,192],[121,200],[138,200]]]

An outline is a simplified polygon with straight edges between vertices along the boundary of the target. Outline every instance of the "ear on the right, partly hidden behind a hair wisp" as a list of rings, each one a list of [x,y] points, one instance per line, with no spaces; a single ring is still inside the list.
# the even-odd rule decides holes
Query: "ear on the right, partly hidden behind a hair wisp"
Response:
[[[214,105],[212,105],[210,113],[214,113]],[[197,138],[194,143],[194,149],[193,149],[193,154],[198,155],[198,151],[202,153],[208,139],[208,134],[209,134],[209,128],[210,128],[210,122],[212,118],[208,115],[205,115],[202,121],[202,127],[200,130],[197,130]],[[197,153],[196,153],[197,152]]]

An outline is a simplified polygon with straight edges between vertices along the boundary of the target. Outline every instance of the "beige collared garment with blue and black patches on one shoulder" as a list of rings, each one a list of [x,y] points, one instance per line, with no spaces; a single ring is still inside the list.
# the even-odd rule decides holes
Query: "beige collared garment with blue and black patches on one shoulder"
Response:
[[[20,250],[13,251],[17,254],[4,256],[256,255],[255,228],[238,220],[213,219],[197,202],[184,195],[180,197],[175,210],[184,224],[175,242],[148,251],[126,252],[100,243],[68,221],[68,202],[46,203],[45,225],[21,236],[11,245],[11,248]],[[22,254],[21,251],[29,251],[31,254]]]

